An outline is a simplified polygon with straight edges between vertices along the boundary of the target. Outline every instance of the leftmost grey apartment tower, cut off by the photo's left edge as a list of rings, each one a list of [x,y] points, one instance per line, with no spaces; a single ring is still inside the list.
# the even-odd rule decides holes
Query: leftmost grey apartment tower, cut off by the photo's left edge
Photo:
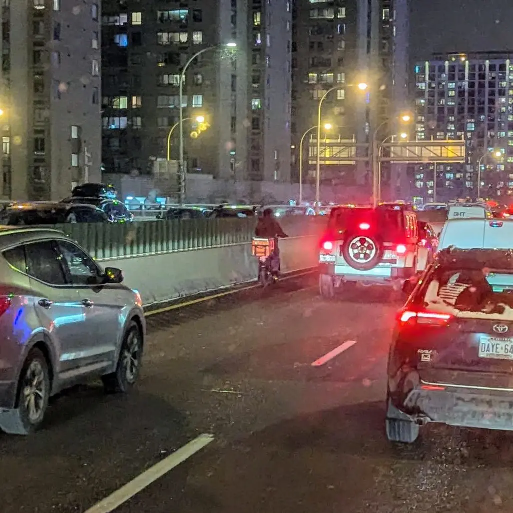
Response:
[[[100,5],[2,1],[2,196],[61,199],[100,180]]]

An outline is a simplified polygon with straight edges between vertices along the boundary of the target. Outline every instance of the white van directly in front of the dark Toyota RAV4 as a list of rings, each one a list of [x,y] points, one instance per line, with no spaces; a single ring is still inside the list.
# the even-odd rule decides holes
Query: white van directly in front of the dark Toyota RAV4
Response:
[[[511,219],[449,219],[440,234],[438,249],[513,249]]]

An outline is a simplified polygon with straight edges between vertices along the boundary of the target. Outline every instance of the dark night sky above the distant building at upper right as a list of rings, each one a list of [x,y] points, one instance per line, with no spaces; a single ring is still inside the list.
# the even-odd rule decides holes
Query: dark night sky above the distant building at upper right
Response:
[[[513,52],[513,0],[410,2],[411,60],[433,52]]]

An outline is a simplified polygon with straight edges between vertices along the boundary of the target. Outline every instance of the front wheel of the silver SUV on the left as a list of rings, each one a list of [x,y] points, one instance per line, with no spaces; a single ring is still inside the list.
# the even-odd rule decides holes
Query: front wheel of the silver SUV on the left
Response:
[[[142,355],[142,333],[139,326],[131,321],[121,344],[116,370],[102,376],[107,393],[127,393],[133,388],[141,371]]]

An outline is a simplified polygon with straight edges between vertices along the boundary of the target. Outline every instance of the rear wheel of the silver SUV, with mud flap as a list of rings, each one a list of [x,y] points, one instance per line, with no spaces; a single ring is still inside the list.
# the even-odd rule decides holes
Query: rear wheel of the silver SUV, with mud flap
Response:
[[[43,423],[50,391],[46,358],[39,349],[31,349],[19,375],[16,406],[0,413],[0,428],[9,435],[35,431]]]

